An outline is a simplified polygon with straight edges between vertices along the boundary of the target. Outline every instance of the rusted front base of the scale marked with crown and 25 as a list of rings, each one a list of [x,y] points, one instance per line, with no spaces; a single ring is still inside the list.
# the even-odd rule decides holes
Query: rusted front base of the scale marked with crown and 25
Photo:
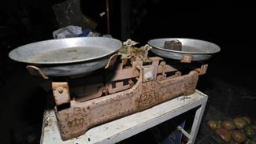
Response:
[[[170,66],[159,65],[160,59],[159,57],[150,58],[153,61],[151,65],[142,66],[139,63],[133,65],[133,68],[139,71],[139,78],[135,85],[133,86],[134,83],[132,83],[128,90],[86,102],[71,100],[67,103],[69,105],[65,105],[65,108],[61,109],[59,109],[61,105],[55,106],[62,140],[83,135],[89,127],[96,124],[148,109],[180,94],[194,94],[198,82],[198,72],[191,71],[184,76],[180,76],[178,72],[171,78],[162,76],[159,79],[161,73],[164,74],[166,69],[171,69]],[[138,75],[135,69],[133,70],[134,75]],[[129,69],[127,71],[130,72]],[[58,97],[61,96],[58,95]]]

